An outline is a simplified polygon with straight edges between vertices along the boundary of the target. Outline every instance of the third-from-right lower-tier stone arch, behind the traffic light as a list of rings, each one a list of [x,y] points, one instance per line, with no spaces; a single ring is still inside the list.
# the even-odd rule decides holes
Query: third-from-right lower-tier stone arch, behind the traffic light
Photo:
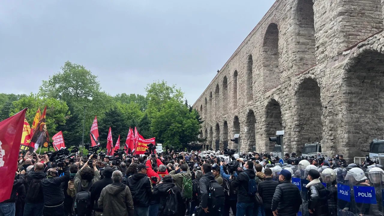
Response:
[[[265,151],[271,151],[273,149],[275,143],[270,143],[269,138],[276,136],[276,131],[280,130],[284,130],[281,106],[277,100],[271,98],[265,106],[264,140],[266,143],[269,143],[265,146]]]

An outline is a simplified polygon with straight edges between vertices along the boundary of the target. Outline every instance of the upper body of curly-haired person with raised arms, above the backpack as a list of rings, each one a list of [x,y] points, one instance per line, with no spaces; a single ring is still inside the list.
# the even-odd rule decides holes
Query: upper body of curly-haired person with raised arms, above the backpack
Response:
[[[96,168],[96,161],[92,160],[92,157],[93,155],[89,156],[88,161],[74,176],[74,189],[76,193],[87,190],[93,183],[100,180],[100,171]],[[93,169],[88,167],[90,162],[92,162]]]

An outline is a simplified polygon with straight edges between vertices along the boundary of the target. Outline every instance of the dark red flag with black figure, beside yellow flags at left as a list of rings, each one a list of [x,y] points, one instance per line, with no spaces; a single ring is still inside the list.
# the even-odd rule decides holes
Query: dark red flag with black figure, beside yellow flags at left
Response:
[[[32,135],[30,147],[34,147],[34,148],[29,148],[28,151],[32,151],[32,150],[36,151],[40,146],[48,147],[50,138],[49,138],[46,119],[45,119],[46,108],[47,107],[44,107],[44,111],[43,111],[43,114],[41,114],[41,118],[38,123],[38,126]]]

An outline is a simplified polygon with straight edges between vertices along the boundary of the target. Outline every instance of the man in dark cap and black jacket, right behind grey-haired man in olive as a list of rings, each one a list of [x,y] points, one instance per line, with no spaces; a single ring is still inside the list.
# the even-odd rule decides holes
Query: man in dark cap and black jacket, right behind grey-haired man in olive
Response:
[[[127,179],[133,198],[134,216],[148,216],[149,214],[152,183],[151,179],[146,176],[147,168],[148,166],[142,163],[137,165],[137,173]]]

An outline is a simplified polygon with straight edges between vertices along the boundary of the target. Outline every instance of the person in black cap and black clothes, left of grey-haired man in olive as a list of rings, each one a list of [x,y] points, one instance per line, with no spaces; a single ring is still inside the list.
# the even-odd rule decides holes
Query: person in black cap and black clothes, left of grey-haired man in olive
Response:
[[[103,171],[104,178],[100,181],[96,181],[89,191],[91,192],[91,200],[90,203],[93,206],[94,216],[101,216],[103,213],[103,208],[100,208],[98,205],[98,200],[100,198],[101,191],[103,188],[105,188],[107,185],[112,184],[112,173],[113,170],[110,167],[106,167]]]

